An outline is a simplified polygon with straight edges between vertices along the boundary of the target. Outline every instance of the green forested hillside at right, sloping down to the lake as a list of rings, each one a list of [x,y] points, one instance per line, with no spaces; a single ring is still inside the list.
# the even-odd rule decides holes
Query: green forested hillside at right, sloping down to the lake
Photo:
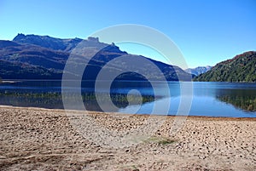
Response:
[[[256,52],[236,55],[212,67],[212,70],[194,78],[200,82],[256,82]]]

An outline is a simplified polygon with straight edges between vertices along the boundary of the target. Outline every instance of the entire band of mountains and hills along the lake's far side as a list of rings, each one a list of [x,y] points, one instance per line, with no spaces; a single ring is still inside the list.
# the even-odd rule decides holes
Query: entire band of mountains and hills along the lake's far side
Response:
[[[88,66],[84,70],[84,80],[95,80],[102,67],[109,61],[125,55],[126,59],[141,59],[152,62],[160,69],[166,80],[177,81],[183,77],[183,81],[191,80],[205,82],[256,82],[256,52],[249,51],[236,55],[231,60],[225,60],[216,66],[199,66],[183,71],[178,66],[171,66],[160,61],[151,60],[141,55],[127,54],[121,51],[114,43],[99,42],[97,37],[89,37],[87,40],[80,38],[61,39],[49,36],[18,34],[13,41],[0,40],[0,80],[3,79],[61,79],[63,69],[69,55],[79,43],[83,43],[91,51],[101,49],[92,59],[87,54],[81,54],[74,62],[74,70]],[[103,47],[103,48],[102,48]],[[152,66],[143,62],[134,61],[129,66],[126,61],[108,65],[108,72],[123,71],[132,68],[117,77],[120,80],[145,80],[143,75],[147,73],[151,80],[160,80],[160,74]],[[136,73],[137,72],[137,73]],[[189,72],[189,73],[188,73]],[[76,73],[69,73],[74,79]]]

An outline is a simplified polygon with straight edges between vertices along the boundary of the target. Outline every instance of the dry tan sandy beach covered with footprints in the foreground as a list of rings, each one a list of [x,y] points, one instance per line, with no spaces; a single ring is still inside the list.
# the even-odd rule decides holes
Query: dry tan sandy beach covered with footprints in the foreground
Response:
[[[148,118],[89,117],[117,131]],[[174,136],[166,118],[152,139],[116,149],[86,140],[65,111],[0,106],[0,170],[256,170],[256,118],[188,117]]]

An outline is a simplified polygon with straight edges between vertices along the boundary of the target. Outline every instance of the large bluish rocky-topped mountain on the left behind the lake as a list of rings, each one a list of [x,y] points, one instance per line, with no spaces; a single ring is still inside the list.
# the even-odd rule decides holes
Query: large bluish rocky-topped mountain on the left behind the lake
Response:
[[[95,80],[102,67],[121,55],[126,58],[147,59],[160,71],[168,81],[177,81],[183,77],[184,81],[191,80],[191,75],[178,66],[170,66],[160,61],[151,60],[141,55],[127,54],[119,47],[112,44],[101,43],[96,37],[87,40],[80,38],[61,39],[49,36],[18,34],[13,41],[0,41],[0,77],[3,79],[61,79],[62,72],[72,50],[83,41],[87,48],[92,50],[102,48],[92,59],[87,59],[87,54],[81,54],[75,61],[74,67],[81,67],[88,62],[83,79]],[[90,60],[90,61],[89,61]],[[127,68],[125,61],[122,64],[108,66],[109,73]],[[125,72],[119,75],[121,80],[145,80],[138,73],[148,73],[148,78],[159,80],[160,75],[147,64],[134,62],[134,72]],[[75,70],[75,68],[74,68]],[[76,78],[75,73],[69,73]]]

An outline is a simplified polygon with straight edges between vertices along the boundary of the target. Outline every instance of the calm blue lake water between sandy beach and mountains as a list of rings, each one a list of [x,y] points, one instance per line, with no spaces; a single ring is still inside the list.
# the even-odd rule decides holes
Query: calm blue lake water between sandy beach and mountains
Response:
[[[175,115],[181,104],[181,87],[189,88],[191,83],[155,82],[154,89],[147,82],[119,81],[112,84],[111,94],[118,111],[124,113],[151,114],[155,106],[160,106],[157,113]],[[193,95],[183,94],[191,101],[189,116],[210,117],[256,117],[256,83],[192,83]],[[126,94],[132,89],[143,95],[143,104],[136,102],[127,106]],[[70,88],[73,91],[73,88]],[[81,88],[84,94],[84,105],[87,110],[101,111],[94,95],[94,83],[83,82]],[[108,89],[97,90],[102,94]],[[171,96],[168,96],[167,91]],[[119,95],[121,94],[121,95]],[[131,91],[132,94],[132,91]],[[125,97],[125,99],[124,99]],[[169,103],[170,102],[170,103]],[[0,84],[0,105],[35,106],[45,108],[63,108],[61,100],[60,81],[15,81],[15,83]],[[188,103],[189,105],[189,103]],[[183,112],[183,109],[179,109]]]

